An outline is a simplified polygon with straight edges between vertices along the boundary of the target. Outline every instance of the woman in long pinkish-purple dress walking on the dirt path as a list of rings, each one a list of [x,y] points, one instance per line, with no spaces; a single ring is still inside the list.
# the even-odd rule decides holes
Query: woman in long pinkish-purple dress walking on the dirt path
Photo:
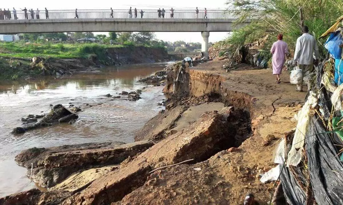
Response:
[[[285,55],[288,53],[288,45],[282,38],[282,33],[277,35],[277,41],[273,43],[272,49],[270,50],[273,55],[273,75],[276,75],[276,83],[280,83],[280,74],[286,59]]]

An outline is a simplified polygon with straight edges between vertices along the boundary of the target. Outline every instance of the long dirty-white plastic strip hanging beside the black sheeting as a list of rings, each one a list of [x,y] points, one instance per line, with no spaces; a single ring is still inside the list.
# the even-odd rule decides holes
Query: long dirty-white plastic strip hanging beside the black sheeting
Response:
[[[291,150],[289,150],[287,155],[287,167],[289,167],[289,165],[296,166],[301,161],[311,109],[315,108],[317,105],[317,95],[313,91],[310,91],[307,101],[298,112],[298,124],[294,133]]]

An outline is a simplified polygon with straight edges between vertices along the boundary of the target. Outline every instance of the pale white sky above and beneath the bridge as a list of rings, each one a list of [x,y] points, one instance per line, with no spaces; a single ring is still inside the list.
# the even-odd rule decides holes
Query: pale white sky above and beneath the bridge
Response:
[[[58,0],[58,1],[46,1],[46,0],[16,0],[16,1],[1,1],[1,8],[21,9],[26,7],[27,9],[39,9],[44,10],[46,7],[48,10],[69,10],[69,9],[129,9],[130,6],[138,9],[158,9],[164,8],[170,10],[174,9],[190,9],[193,10],[198,6],[198,9],[226,9],[226,1],[230,0],[211,0],[211,1],[199,1],[199,0],[173,0],[173,1],[161,1],[161,0]],[[143,3],[144,2],[144,3]],[[102,34],[95,32],[95,34]],[[105,33],[106,34],[106,33]],[[164,41],[178,41],[185,42],[201,42],[202,37],[200,32],[155,32],[156,38]],[[216,42],[224,39],[227,36],[227,32],[210,32],[209,41]]]

